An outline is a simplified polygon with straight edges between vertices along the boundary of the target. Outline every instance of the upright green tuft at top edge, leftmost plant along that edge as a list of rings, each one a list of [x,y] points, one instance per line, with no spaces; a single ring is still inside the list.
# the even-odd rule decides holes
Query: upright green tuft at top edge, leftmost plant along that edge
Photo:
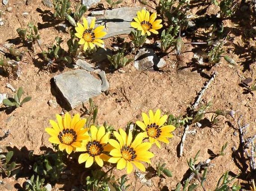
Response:
[[[54,13],[53,16],[64,21],[67,15],[71,13],[71,2],[69,0],[53,0]]]

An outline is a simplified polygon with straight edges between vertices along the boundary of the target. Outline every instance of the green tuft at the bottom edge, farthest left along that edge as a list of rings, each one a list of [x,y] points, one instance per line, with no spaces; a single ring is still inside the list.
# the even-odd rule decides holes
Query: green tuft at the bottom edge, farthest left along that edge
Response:
[[[39,179],[39,176],[34,179],[34,175],[31,176],[30,180],[24,183],[25,191],[47,191],[44,185],[44,179]]]

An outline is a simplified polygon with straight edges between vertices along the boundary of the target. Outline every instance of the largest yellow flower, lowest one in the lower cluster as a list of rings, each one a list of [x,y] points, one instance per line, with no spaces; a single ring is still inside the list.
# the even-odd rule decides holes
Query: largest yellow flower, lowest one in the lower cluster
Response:
[[[108,140],[114,149],[111,150],[111,157],[108,162],[117,163],[117,169],[121,170],[127,166],[127,174],[132,172],[133,165],[138,169],[145,172],[145,166],[141,163],[150,163],[150,160],[154,154],[149,152],[151,143],[142,143],[144,139],[142,133],[138,134],[132,142],[132,133],[129,131],[128,136],[124,130],[119,129],[119,133],[114,131],[114,136],[118,142],[114,139]]]

